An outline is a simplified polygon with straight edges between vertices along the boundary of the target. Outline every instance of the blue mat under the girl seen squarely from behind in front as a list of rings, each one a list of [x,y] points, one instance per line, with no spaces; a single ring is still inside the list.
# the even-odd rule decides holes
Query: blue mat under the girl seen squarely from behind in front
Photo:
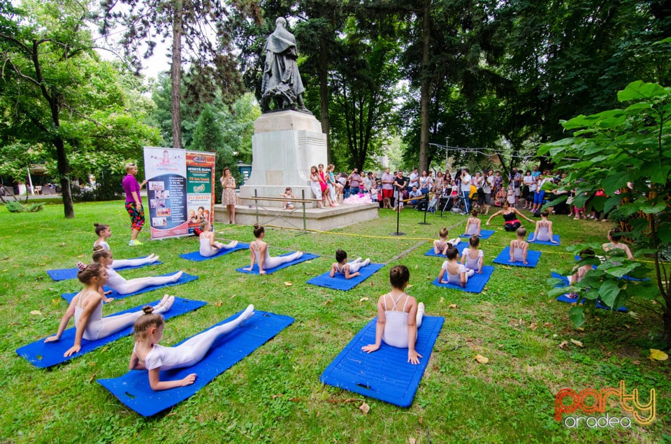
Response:
[[[373,353],[361,350],[361,347],[375,343],[376,317],[354,336],[319,380],[395,406],[409,407],[444,322],[445,318],[424,316],[414,347],[422,357],[419,364],[413,365],[407,362],[407,348],[396,348],[383,342],[380,350]]]

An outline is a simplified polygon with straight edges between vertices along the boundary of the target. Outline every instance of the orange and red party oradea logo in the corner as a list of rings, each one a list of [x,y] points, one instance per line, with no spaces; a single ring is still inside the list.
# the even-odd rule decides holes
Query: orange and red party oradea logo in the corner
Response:
[[[630,429],[631,418],[626,415],[617,415],[618,408],[620,413],[621,410],[630,413],[638,424],[648,425],[655,420],[656,405],[654,389],[650,390],[648,403],[642,404],[638,390],[633,389],[628,394],[625,383],[621,380],[619,388],[606,387],[601,390],[586,388],[579,393],[570,388],[559,390],[554,397],[554,419],[559,422],[563,421],[566,427],[572,429],[578,427],[599,429],[625,427]],[[572,415],[577,411],[590,416],[581,416],[579,413]],[[593,416],[593,413],[606,413],[606,415]]]

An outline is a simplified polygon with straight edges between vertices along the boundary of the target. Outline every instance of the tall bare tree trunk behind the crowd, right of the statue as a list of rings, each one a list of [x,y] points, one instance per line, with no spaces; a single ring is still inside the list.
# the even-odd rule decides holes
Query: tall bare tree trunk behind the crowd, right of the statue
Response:
[[[419,130],[419,170],[428,170],[428,125],[430,112],[428,109],[431,94],[431,0],[424,0],[422,8],[422,45],[421,45],[421,84],[420,108],[421,128]]]

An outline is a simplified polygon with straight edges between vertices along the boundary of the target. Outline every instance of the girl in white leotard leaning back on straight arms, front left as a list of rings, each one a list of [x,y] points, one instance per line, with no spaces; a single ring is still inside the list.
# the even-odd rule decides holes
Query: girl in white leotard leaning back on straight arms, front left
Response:
[[[71,318],[75,318],[75,343],[63,354],[65,357],[77,353],[82,348],[82,339],[87,341],[96,341],[98,339],[110,336],[119,330],[123,330],[133,323],[143,314],[143,311],[134,313],[124,313],[115,316],[102,317],[103,295],[99,288],[107,282],[107,271],[101,264],[85,265],[82,262],[77,264],[80,271],[77,277],[85,285],[75,297],[73,297],[68,309],[61,318],[58,325],[58,331],[54,336],[49,336],[45,342],[55,342],[61,339]],[[175,302],[174,296],[165,295],[161,302],[153,309],[157,313],[168,311]]]

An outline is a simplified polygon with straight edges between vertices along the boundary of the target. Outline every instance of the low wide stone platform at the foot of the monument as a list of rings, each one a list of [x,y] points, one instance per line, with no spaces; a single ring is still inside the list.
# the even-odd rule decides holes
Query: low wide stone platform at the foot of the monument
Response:
[[[250,201],[251,202],[251,201]],[[236,222],[240,225],[275,225],[282,228],[298,228],[303,230],[333,230],[343,228],[353,223],[377,219],[377,202],[366,205],[346,205],[329,208],[305,208],[296,205],[296,209],[280,209],[275,207],[259,207],[252,205],[236,205]],[[226,207],[215,205],[215,222],[226,223]]]

